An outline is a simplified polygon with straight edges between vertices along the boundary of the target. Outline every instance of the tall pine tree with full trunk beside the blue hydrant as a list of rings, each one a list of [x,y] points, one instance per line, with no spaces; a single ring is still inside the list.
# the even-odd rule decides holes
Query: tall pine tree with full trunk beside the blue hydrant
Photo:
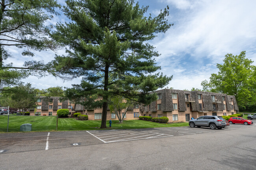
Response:
[[[134,0],[66,3],[63,11],[72,22],[57,24],[52,37],[69,46],[68,55],[56,56],[53,64],[63,74],[83,77],[80,85],[67,90],[67,97],[85,97],[81,103],[86,107],[102,105],[100,128],[106,128],[109,96],[121,95],[145,104],[155,100],[156,95],[148,92],[162,88],[172,77],[156,73],[160,66],[154,57],[159,54],[146,41],[171,26],[166,20],[168,7],[156,17],[146,17],[148,7],[139,7]]]

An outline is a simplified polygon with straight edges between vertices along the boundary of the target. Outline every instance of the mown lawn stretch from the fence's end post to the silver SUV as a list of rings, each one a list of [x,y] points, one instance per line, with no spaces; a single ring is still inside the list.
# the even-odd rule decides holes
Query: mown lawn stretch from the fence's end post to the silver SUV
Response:
[[[109,121],[107,121],[107,127],[109,127]],[[80,121],[75,118],[59,118],[58,130],[99,130],[101,121]],[[175,126],[189,126],[188,122],[180,123],[157,123],[143,120],[129,120],[124,121],[122,124],[119,121],[112,121],[111,129],[136,129],[136,128],[157,128],[157,127],[175,127]]]

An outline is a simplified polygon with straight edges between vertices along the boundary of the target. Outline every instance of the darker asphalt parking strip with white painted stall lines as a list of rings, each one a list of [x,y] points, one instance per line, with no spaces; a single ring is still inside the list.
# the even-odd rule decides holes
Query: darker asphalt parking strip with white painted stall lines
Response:
[[[207,127],[190,128],[189,126],[183,126],[127,130],[2,133],[0,134],[0,154],[89,146],[123,141],[150,140],[202,133],[226,132],[229,130],[254,126],[255,124],[247,126],[243,124],[232,124],[221,130],[211,130]]]

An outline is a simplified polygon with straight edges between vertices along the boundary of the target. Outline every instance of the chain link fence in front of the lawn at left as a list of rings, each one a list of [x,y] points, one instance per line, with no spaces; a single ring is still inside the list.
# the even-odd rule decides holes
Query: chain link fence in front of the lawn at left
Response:
[[[20,132],[22,124],[32,124],[32,131],[51,131],[58,128],[57,116],[0,115],[0,132]]]

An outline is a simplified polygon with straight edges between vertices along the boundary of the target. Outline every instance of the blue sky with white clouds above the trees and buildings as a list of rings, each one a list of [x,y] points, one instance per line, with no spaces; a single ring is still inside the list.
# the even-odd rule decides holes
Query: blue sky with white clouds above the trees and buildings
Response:
[[[64,0],[58,0],[65,4]],[[139,5],[149,6],[148,13],[159,14],[169,6],[168,22],[174,24],[165,33],[158,34],[149,43],[161,55],[156,63],[160,72],[173,79],[165,88],[178,90],[202,89],[201,82],[209,80],[211,73],[217,73],[216,64],[223,64],[228,53],[239,55],[246,51],[246,57],[256,60],[256,6],[255,0],[138,0]],[[148,15],[147,13],[147,15]],[[65,22],[65,16],[49,21],[55,25]],[[21,49],[10,48],[15,58],[7,59],[13,66],[22,66],[27,60],[43,60],[45,63],[55,55],[65,54],[65,49],[36,52],[33,58],[21,55]],[[256,65],[256,62],[253,63]],[[70,88],[80,84],[81,79],[63,81],[46,76],[38,79],[30,76],[23,79],[33,87],[46,89],[55,86]]]

